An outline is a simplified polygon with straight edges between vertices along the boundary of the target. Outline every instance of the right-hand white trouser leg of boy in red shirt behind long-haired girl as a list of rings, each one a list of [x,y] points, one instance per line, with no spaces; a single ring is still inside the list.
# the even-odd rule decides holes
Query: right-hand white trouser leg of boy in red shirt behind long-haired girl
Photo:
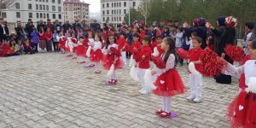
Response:
[[[195,75],[195,98],[201,99],[202,75]]]

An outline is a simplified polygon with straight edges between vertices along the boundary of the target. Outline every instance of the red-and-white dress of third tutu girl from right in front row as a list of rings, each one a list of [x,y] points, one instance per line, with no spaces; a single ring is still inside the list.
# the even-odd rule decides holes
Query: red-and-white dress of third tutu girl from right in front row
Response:
[[[110,52],[107,53],[107,55],[103,56],[103,60],[102,60],[102,64],[103,67],[107,70],[110,69],[110,67],[112,66],[114,60],[116,60],[116,63],[114,64],[114,68],[121,68],[122,67],[122,59],[121,59],[121,53],[118,49],[118,45],[117,44],[109,44],[108,45],[108,50]]]

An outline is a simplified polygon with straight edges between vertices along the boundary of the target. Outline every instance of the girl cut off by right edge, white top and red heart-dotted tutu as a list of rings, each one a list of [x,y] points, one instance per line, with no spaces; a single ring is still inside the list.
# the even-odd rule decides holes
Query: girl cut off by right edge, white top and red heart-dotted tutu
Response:
[[[245,90],[241,90],[228,108],[228,119],[232,127],[256,127],[256,40],[248,45],[251,60],[246,61],[241,67],[234,67],[228,63],[223,73],[240,77],[245,76]]]

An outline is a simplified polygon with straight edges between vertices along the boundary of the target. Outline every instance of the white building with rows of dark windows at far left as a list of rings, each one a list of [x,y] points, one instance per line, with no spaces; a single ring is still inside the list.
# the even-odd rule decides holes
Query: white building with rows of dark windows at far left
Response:
[[[8,22],[27,22],[28,19],[63,22],[63,0],[16,0],[15,6],[2,11],[2,17]]]

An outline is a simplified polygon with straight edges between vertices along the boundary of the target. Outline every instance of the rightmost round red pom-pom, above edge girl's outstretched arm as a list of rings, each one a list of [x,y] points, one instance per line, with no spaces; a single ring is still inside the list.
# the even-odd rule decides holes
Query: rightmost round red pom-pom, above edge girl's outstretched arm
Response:
[[[230,58],[234,61],[240,62],[243,60],[244,51],[243,51],[243,49],[241,49],[240,47],[238,47],[236,45],[228,44],[224,48],[224,51],[225,51],[226,55],[230,56]]]

